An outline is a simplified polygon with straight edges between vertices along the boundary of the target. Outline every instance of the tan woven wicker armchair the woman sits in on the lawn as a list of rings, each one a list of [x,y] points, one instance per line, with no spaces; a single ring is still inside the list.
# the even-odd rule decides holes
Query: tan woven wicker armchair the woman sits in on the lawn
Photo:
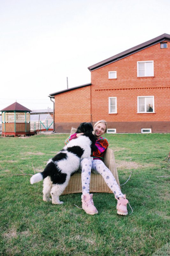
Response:
[[[74,127],[72,127],[70,135],[74,134],[77,131]],[[107,168],[113,173],[117,184],[120,187],[119,177],[117,173],[115,156],[113,150],[107,148],[104,154],[104,163]],[[91,173],[90,179],[90,193],[91,192],[100,192],[100,193],[113,193],[110,188],[107,186],[103,177],[100,174]],[[81,172],[76,172],[71,176],[68,186],[65,188],[63,195],[66,194],[74,194],[74,193],[82,193],[82,185],[81,185]]]

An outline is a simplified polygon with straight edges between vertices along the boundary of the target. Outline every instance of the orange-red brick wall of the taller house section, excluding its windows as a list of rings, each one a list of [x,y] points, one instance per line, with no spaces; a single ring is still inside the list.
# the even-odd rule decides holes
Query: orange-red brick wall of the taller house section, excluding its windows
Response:
[[[137,61],[147,60],[154,61],[154,77],[137,77]],[[108,79],[108,71],[117,71],[117,79]],[[92,71],[91,83],[93,120],[170,121],[170,43],[166,49],[156,44]],[[154,96],[155,113],[137,114],[137,96]],[[108,97],[117,97],[117,114],[108,114]]]

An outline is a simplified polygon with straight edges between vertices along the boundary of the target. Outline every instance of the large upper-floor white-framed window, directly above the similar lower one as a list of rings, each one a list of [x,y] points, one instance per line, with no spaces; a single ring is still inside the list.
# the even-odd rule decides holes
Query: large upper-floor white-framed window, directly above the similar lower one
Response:
[[[137,61],[137,76],[153,76],[153,60]]]

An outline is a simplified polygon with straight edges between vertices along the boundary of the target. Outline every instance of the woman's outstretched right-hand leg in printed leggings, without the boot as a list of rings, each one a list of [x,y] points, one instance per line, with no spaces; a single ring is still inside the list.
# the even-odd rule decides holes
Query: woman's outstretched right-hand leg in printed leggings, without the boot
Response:
[[[102,175],[103,179],[107,183],[108,187],[113,191],[116,198],[124,197],[112,172],[101,160],[92,161],[92,170]]]

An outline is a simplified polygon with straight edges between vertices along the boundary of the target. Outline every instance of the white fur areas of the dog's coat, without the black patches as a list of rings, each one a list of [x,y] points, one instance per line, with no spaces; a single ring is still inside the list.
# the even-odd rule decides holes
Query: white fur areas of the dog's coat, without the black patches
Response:
[[[60,161],[55,161],[54,164],[60,169],[62,173],[66,173],[66,180],[63,184],[53,184],[50,177],[47,176],[43,181],[43,200],[51,201],[50,194],[52,197],[52,204],[63,204],[59,200],[59,196],[63,193],[64,189],[69,183],[70,175],[73,172],[76,172],[79,169],[80,160],[83,158],[90,158],[91,155],[91,140],[86,136],[79,136],[77,139],[70,140],[70,142],[63,148],[62,153],[66,153],[67,159],[62,159]],[[79,158],[72,152],[67,151],[68,148],[73,146],[79,146],[84,150],[83,155]],[[61,152],[61,151],[60,151]],[[59,152],[59,153],[60,153]],[[47,165],[53,162],[52,159],[49,159]],[[36,173],[30,179],[30,183],[39,182],[43,180],[43,177],[40,173]]]

